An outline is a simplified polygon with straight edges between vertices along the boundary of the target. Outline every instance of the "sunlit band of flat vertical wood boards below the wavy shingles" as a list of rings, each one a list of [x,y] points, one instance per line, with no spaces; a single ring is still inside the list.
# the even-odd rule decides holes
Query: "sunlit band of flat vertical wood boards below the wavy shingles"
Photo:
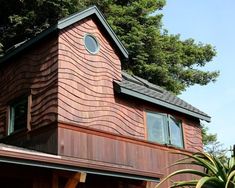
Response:
[[[58,140],[58,153],[62,156],[76,156],[90,166],[97,165],[101,169],[115,167],[123,173],[132,170],[143,176],[163,177],[176,170],[177,167],[167,167],[182,158],[179,154],[172,154],[172,152],[180,152],[175,148],[79,128],[75,125],[60,124]],[[191,176],[179,176],[176,180],[185,180],[185,178],[188,179]]]

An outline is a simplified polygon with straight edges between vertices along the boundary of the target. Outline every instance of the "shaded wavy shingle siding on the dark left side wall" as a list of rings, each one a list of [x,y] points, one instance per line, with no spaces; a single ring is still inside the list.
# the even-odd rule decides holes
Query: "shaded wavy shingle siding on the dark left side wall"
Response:
[[[45,42],[45,41],[44,41]],[[31,127],[57,119],[57,39],[50,39],[7,62],[0,69],[0,130],[6,132],[7,106],[25,94],[32,94]]]

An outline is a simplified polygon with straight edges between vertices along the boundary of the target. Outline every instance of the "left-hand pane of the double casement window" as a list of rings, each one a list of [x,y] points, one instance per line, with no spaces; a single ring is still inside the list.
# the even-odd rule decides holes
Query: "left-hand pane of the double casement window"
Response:
[[[165,116],[156,113],[147,113],[148,140],[158,143],[166,143]]]

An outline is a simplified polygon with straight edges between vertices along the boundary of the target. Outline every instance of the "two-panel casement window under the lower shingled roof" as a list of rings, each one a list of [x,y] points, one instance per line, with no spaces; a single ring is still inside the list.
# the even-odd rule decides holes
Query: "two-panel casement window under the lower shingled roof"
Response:
[[[181,122],[168,114],[147,112],[147,137],[149,141],[183,148]]]

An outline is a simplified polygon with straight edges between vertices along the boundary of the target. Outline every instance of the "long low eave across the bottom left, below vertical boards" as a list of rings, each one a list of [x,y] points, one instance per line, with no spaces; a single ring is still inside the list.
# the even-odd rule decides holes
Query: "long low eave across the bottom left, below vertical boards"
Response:
[[[5,147],[4,147],[5,148]],[[35,152],[24,151],[19,149],[9,149],[0,147],[0,163],[19,164],[33,167],[42,167],[56,170],[66,170],[72,172],[85,172],[97,175],[106,175],[113,177],[122,177],[128,179],[137,179],[145,181],[159,182],[162,174],[151,173],[151,175],[142,174],[141,172],[131,171],[122,172],[116,167],[113,169],[107,169],[105,166],[95,167],[93,164],[87,165],[87,163],[79,162],[78,160],[72,160],[66,156],[58,156]],[[87,167],[88,166],[88,167]]]

